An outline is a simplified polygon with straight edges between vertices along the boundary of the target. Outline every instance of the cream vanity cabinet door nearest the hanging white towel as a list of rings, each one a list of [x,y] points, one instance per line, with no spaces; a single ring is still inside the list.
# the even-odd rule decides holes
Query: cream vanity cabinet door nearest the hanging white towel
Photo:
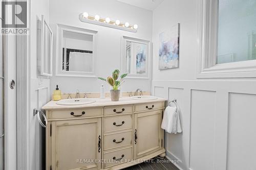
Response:
[[[134,117],[134,159],[162,148],[162,110],[137,113]]]

